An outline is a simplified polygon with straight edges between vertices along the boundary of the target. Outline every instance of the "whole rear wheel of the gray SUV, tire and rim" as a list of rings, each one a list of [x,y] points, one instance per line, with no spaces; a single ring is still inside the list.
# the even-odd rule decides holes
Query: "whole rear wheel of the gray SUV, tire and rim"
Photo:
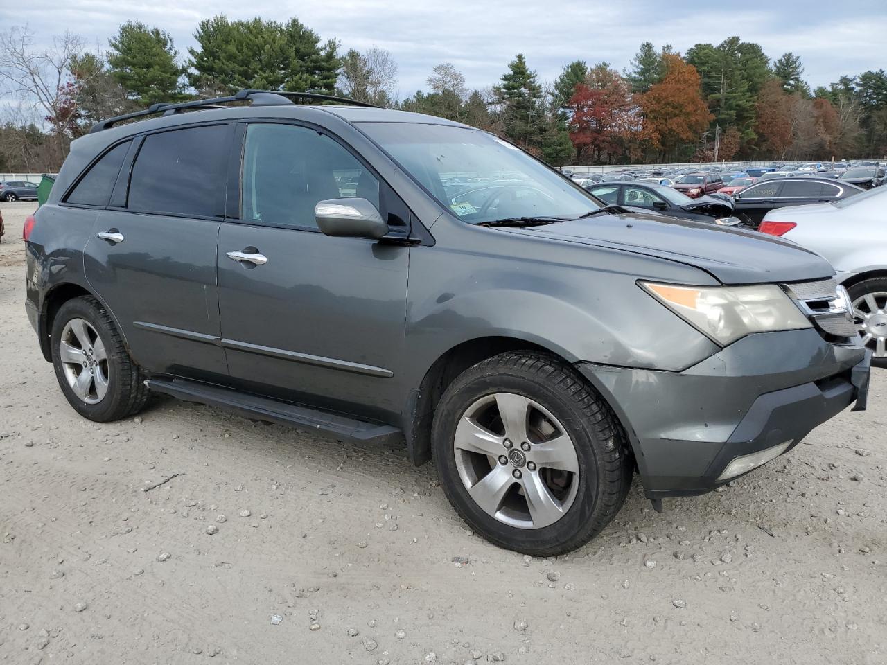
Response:
[[[148,389],[114,320],[91,296],[67,301],[52,323],[52,365],[68,403],[85,418],[125,418],[145,405]]]

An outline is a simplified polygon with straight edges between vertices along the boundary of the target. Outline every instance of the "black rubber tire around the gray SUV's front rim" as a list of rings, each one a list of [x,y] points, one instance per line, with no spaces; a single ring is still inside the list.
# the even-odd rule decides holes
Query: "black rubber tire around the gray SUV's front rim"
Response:
[[[548,526],[503,523],[475,503],[459,476],[453,448],[459,420],[478,400],[498,393],[522,395],[543,406],[576,449],[575,498]],[[607,404],[568,364],[534,351],[493,356],[453,380],[435,411],[432,446],[444,493],[462,519],[491,543],[533,556],[569,552],[597,536],[616,517],[632,482],[633,461]]]

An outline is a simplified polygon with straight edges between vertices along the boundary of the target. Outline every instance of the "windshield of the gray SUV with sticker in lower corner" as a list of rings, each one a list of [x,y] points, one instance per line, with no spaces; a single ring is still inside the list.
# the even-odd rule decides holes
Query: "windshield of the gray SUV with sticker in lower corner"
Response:
[[[468,223],[576,219],[600,208],[576,184],[479,129],[401,122],[360,127],[443,207]]]

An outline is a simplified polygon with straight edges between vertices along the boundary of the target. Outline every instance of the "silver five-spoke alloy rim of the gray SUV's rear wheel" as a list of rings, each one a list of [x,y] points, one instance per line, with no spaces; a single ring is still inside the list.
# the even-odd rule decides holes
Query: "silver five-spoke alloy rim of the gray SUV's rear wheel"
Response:
[[[95,404],[108,391],[108,357],[96,329],[82,318],[67,322],[59,341],[59,360],[67,385],[84,403]]]

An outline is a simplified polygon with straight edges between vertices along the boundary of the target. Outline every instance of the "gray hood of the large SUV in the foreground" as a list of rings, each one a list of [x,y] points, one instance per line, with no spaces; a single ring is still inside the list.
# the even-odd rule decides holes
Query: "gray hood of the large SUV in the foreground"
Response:
[[[790,240],[664,215],[598,215],[507,231],[680,262],[722,284],[798,282],[835,274],[819,254]]]

